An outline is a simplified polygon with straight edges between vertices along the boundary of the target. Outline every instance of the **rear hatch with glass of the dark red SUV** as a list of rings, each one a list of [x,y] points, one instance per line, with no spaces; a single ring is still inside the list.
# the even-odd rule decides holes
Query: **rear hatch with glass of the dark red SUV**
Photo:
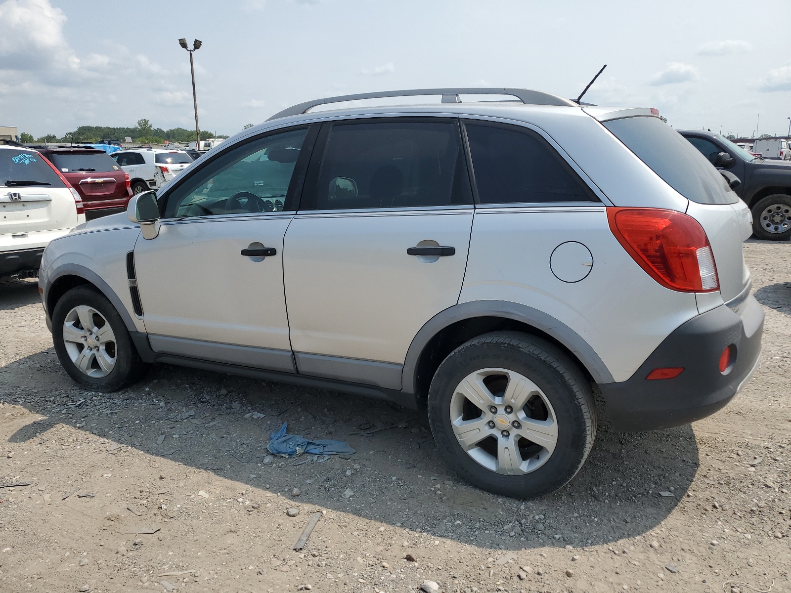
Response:
[[[97,201],[123,201],[128,197],[126,173],[104,150],[53,150],[47,158],[79,192],[87,208],[97,206]]]

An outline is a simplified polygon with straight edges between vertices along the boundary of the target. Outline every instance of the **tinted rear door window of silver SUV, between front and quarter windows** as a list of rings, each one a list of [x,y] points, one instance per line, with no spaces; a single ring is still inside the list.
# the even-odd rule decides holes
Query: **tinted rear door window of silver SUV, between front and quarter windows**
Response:
[[[335,123],[313,187],[301,210],[472,203],[455,119]]]

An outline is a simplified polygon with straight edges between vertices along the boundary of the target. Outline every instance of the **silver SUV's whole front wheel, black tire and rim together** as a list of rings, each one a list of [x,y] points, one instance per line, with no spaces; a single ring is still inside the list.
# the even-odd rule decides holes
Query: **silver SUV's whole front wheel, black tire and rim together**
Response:
[[[147,368],[115,307],[90,286],[71,289],[55,304],[52,341],[69,376],[91,391],[123,389]]]

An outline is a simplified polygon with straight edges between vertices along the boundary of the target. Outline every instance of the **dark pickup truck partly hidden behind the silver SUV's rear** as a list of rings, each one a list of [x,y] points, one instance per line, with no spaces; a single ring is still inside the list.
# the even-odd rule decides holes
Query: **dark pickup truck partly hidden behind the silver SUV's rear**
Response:
[[[736,195],[750,207],[755,236],[778,241],[791,238],[791,163],[755,157],[713,132],[679,130],[679,134],[715,167],[739,179]]]

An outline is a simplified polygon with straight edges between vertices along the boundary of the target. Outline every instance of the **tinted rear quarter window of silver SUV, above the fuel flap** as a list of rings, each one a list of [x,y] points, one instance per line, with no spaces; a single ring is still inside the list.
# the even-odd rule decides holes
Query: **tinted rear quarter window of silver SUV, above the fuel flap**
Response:
[[[599,198],[532,130],[464,123],[482,204],[599,202]]]

